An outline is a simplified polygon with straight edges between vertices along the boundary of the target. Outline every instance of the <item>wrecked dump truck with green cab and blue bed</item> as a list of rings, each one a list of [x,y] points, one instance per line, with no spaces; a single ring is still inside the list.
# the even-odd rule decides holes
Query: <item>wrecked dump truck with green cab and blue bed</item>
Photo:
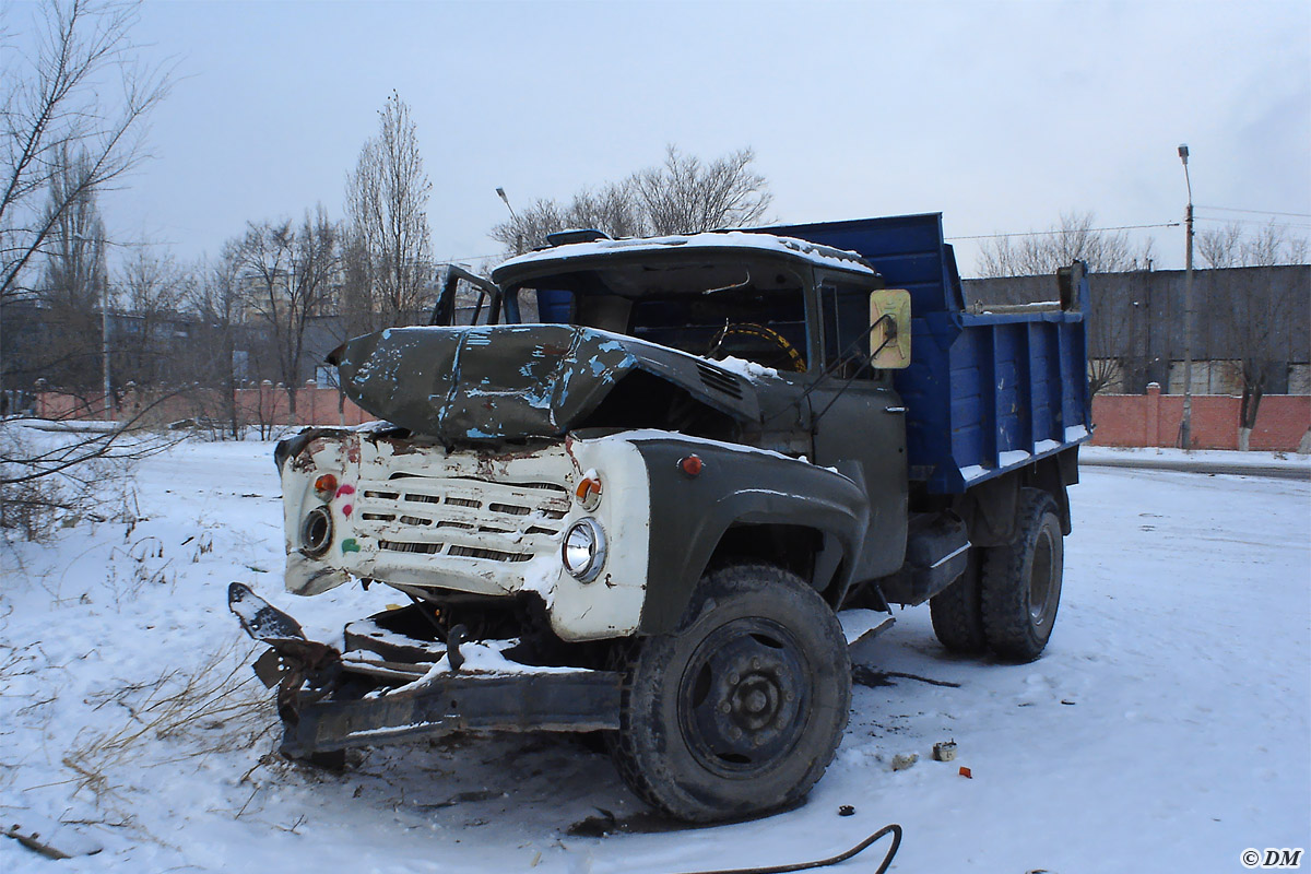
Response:
[[[551,242],[347,341],[379,419],[278,444],[286,588],[408,601],[338,649],[231,586],[284,752],[598,732],[641,799],[713,822],[832,760],[839,611],[927,601],[949,650],[1040,656],[1089,436],[1082,265],[988,307],[936,214]]]

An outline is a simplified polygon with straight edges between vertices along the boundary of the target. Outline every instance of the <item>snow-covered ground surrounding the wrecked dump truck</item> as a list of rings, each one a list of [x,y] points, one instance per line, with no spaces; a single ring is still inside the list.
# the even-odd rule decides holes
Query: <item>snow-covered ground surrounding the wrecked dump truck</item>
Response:
[[[667,833],[568,736],[383,747],[341,776],[269,756],[227,583],[320,638],[399,600],[281,591],[270,451],[176,447],[139,465],[134,525],[0,546],[0,818],[105,848],[59,870],[696,871],[818,858],[898,822],[895,871],[1235,871],[1245,848],[1311,836],[1311,484],[1087,468],[1041,660],[950,656],[927,608],[901,612],[855,653],[868,685],[809,803]],[[245,685],[214,693],[229,671]],[[948,739],[957,761],[932,761]],[[898,753],[919,761],[894,772]],[[569,833],[598,811],[633,831]],[[881,846],[834,870],[871,870]],[[51,865],[0,840],[0,870]]]

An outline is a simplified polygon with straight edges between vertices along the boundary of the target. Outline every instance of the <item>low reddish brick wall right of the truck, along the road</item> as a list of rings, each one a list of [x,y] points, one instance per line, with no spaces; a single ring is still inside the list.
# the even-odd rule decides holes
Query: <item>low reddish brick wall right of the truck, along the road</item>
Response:
[[[1194,449],[1236,449],[1242,400],[1224,394],[1193,396]],[[1176,446],[1184,398],[1162,394],[1095,394],[1093,446]],[[1266,394],[1256,415],[1248,448],[1294,452],[1311,430],[1311,396]]]

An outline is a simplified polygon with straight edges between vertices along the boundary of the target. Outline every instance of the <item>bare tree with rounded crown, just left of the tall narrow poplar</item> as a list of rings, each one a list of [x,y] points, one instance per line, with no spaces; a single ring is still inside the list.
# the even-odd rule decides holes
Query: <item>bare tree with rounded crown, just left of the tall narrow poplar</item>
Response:
[[[305,328],[332,300],[340,254],[337,227],[323,206],[305,212],[299,228],[290,221],[250,224],[240,244],[237,269],[250,312],[273,335],[287,405],[296,411],[296,384],[304,359]]]

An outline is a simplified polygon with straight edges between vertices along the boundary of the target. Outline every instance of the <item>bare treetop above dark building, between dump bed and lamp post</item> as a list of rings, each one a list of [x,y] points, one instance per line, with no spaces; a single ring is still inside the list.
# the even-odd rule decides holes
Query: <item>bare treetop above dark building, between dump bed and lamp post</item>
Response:
[[[1093,273],[1146,270],[1154,241],[1135,246],[1124,231],[1096,228],[1092,212],[1067,212],[1061,224],[1029,235],[1006,235],[979,248],[978,273],[985,278],[1038,276],[1083,261]]]

